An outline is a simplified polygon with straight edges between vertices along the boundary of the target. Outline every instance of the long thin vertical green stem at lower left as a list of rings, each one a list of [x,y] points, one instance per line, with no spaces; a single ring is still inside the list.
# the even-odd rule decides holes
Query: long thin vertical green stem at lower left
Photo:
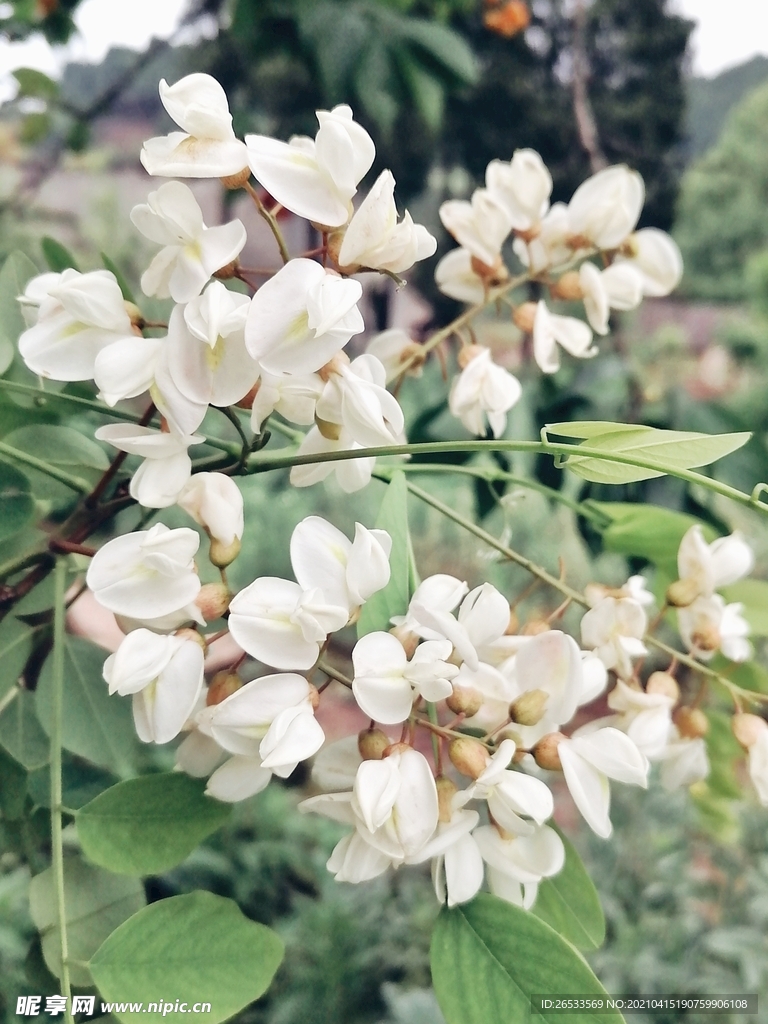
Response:
[[[63,842],[61,839],[61,716],[63,709],[65,591],[67,563],[56,561],[53,605],[53,703],[50,727],[50,827],[53,877],[56,888],[58,940],[61,947],[61,994],[67,998],[65,1021],[72,1024],[72,987],[70,985],[67,906],[65,901]]]

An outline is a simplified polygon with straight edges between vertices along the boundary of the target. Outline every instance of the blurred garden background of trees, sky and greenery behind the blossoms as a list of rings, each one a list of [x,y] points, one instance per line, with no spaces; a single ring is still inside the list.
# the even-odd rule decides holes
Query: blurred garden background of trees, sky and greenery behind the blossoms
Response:
[[[567,201],[606,163],[638,169],[647,189],[641,223],[677,239],[683,285],[614,321],[600,358],[526,380],[508,435],[536,437],[541,424],[568,418],[754,430],[716,472],[745,490],[768,479],[768,8],[759,0],[0,2],[0,258],[22,249],[43,269],[52,237],[82,269],[101,265],[106,252],[135,287],[151,251],[128,213],[159,183],[138,153],[143,139],[170,130],[158,81],[193,71],[225,87],[241,135],[313,135],[315,109],[349,102],[377,144],[370,180],[393,170],[400,208],[438,234],[438,253],[453,244],[439,204],[469,196],[487,162],[517,147],[542,154],[554,200]],[[250,207],[217,181],[195,189],[209,224],[233,215],[246,222],[244,262],[276,264]],[[283,226],[294,251],[305,247],[303,223],[288,217]],[[436,293],[433,267],[420,265],[399,292],[368,283],[371,331],[399,326],[420,337],[446,322],[455,306]],[[145,311],[162,309],[147,302]],[[525,376],[511,323],[489,317],[477,330]],[[425,376],[400,395],[410,439],[464,436],[445,412],[439,366]],[[17,408],[3,402],[0,434],[19,424]],[[623,488],[564,480],[545,459],[505,466],[580,499],[648,501],[723,530],[739,526],[766,574],[765,527],[709,494],[668,478]],[[554,568],[563,557],[574,585],[618,583],[643,567],[602,552],[589,523],[539,495],[431,486],[534,559]],[[296,492],[275,477],[247,481],[246,497],[260,530],[237,563],[237,585],[289,574],[290,531],[310,511],[345,528],[372,522],[381,488],[342,500],[333,486]],[[412,526],[422,575],[439,568],[472,585],[492,579],[510,595],[522,590],[521,575],[423,509]],[[660,591],[664,581],[654,583]],[[537,594],[526,607],[552,610]],[[758,660],[768,665],[764,643]],[[742,683],[768,691],[768,671],[758,665]],[[616,792],[609,843],[580,830],[567,801],[558,812],[601,893],[608,937],[591,963],[613,992],[758,991],[768,1006],[768,816],[739,797],[739,752],[718,721],[716,711],[711,752],[723,769],[690,795]],[[85,778],[72,761],[67,803],[79,806],[75,788],[82,798],[109,779]],[[38,791],[42,805],[42,777]],[[437,909],[429,879],[411,869],[336,885],[324,866],[336,827],[287,813],[298,799],[295,787],[275,784],[246,802],[185,864],[151,880],[150,896],[203,886],[281,930],[289,955],[272,991],[241,1015],[248,1024],[439,1024],[428,987]],[[10,851],[0,859],[0,1008],[11,1019],[16,995],[54,992],[57,983],[39,947],[28,953],[29,878],[12,852],[39,838],[13,835],[6,820],[0,827]]]

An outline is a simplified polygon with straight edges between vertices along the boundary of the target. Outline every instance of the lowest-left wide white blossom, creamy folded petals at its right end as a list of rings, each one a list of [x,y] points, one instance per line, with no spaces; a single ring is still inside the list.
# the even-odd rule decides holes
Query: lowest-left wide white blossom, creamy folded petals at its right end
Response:
[[[198,727],[230,754],[258,758],[262,768],[287,778],[326,738],[310,695],[303,676],[261,676],[201,711]]]

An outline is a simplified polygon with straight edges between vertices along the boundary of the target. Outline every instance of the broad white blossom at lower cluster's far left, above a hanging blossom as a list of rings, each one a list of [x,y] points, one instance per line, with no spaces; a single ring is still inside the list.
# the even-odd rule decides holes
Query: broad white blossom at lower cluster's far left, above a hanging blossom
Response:
[[[160,522],[116,537],[91,559],[86,583],[102,607],[120,615],[143,621],[182,612],[200,591],[199,545],[194,529],[169,529]]]

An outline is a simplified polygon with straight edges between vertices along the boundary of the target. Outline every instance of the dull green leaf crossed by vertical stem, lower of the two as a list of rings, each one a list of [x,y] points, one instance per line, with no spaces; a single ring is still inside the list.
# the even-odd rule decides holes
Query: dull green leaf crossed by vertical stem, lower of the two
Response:
[[[92,985],[84,965],[118,925],[145,904],[144,888],[137,879],[111,874],[86,864],[79,857],[65,860],[65,906],[70,978],[74,985]],[[36,874],[30,883],[30,912],[40,932],[43,957],[51,974],[61,974],[58,939],[58,903],[53,868]]]

